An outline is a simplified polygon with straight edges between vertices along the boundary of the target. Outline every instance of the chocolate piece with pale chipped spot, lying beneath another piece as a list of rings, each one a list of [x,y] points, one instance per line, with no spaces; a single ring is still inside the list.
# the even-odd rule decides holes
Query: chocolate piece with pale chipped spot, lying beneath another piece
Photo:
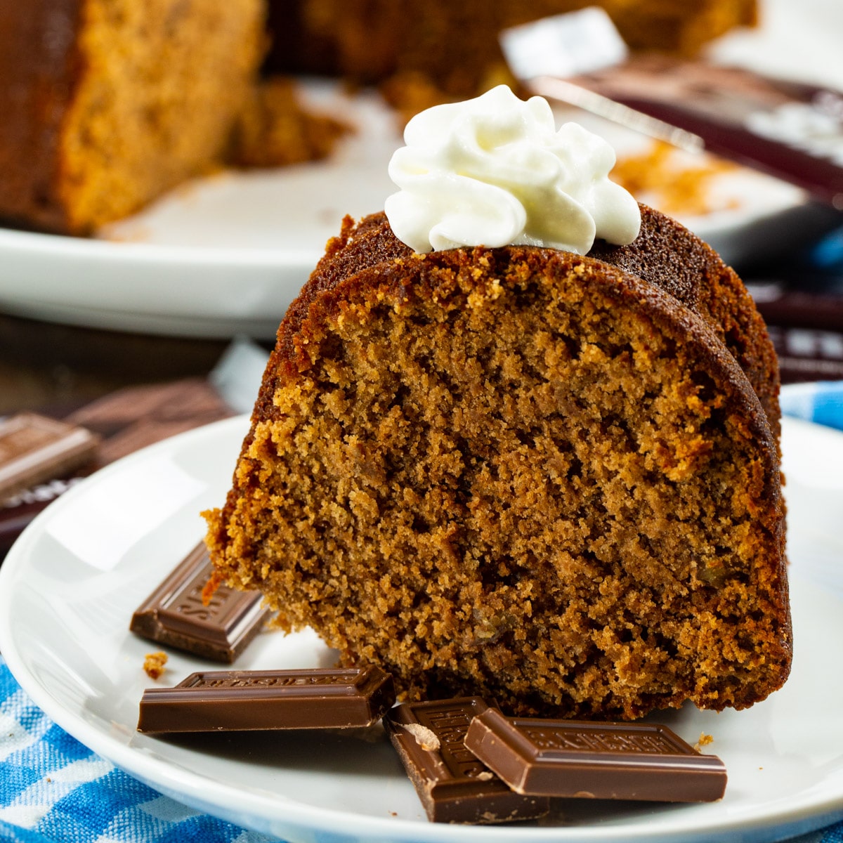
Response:
[[[479,696],[469,696],[404,703],[384,719],[432,822],[502,823],[548,812],[546,798],[513,793],[465,749],[472,718],[490,710]]]

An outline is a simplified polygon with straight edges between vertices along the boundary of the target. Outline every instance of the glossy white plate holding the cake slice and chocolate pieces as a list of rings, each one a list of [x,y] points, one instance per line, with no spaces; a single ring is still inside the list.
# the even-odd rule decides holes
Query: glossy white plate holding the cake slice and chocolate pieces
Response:
[[[0,567],[0,650],[35,702],[84,744],[195,808],[293,841],[772,840],[843,816],[843,435],[788,421],[796,653],[785,688],[748,711],[687,706],[659,717],[690,743],[701,733],[728,767],[707,805],[574,802],[545,824],[427,822],[379,728],[336,734],[135,732],[151,684],[149,642],[132,610],[202,534],[199,511],[223,500],[244,417],[186,433],[83,481],[26,530]],[[824,583],[820,585],[818,583]],[[307,668],[333,656],[312,634],[268,633],[241,668]],[[162,682],[207,668],[171,655]],[[365,739],[365,738],[370,739]]]

